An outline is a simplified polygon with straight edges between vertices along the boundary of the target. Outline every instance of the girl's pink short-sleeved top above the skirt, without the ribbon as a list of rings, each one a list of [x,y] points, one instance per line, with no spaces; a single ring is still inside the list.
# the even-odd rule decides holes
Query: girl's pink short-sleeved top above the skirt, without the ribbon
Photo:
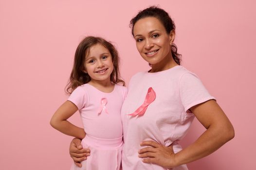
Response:
[[[127,88],[115,85],[110,93],[104,93],[92,85],[78,86],[69,97],[80,113],[86,134],[97,138],[113,139],[123,135],[121,107],[127,95]],[[98,114],[101,99],[106,98],[106,110]]]

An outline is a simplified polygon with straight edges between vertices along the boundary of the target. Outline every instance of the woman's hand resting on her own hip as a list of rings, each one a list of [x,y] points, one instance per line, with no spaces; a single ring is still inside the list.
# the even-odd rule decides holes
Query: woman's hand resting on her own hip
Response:
[[[138,152],[139,157],[144,158],[144,163],[154,163],[165,168],[175,167],[172,145],[165,147],[155,141],[143,141],[141,146],[146,146]]]

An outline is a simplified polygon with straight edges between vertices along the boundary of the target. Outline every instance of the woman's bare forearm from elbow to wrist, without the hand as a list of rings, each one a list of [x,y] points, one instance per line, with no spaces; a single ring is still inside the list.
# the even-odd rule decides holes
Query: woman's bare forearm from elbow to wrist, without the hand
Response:
[[[198,160],[213,153],[233,137],[232,125],[228,128],[209,127],[194,143],[176,153],[174,161],[179,166]]]

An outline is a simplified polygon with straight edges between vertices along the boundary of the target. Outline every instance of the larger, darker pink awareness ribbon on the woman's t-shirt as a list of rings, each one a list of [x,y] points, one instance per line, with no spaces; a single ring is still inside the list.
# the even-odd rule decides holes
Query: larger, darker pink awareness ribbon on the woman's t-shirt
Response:
[[[149,87],[146,93],[146,98],[143,104],[136,109],[130,116],[143,115],[146,112],[147,106],[156,99],[156,93],[152,87]]]

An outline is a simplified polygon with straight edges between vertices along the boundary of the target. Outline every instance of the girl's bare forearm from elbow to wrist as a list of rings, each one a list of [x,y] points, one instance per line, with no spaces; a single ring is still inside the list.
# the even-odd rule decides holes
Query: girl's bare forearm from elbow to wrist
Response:
[[[86,134],[83,128],[80,128],[80,127],[77,127],[77,126],[73,125],[68,120],[62,120],[58,123],[55,123],[54,125],[52,124],[52,126],[56,130],[62,132],[63,134],[73,136],[73,137],[77,137],[77,138],[80,138],[80,139],[83,139],[85,137],[85,134]]]

